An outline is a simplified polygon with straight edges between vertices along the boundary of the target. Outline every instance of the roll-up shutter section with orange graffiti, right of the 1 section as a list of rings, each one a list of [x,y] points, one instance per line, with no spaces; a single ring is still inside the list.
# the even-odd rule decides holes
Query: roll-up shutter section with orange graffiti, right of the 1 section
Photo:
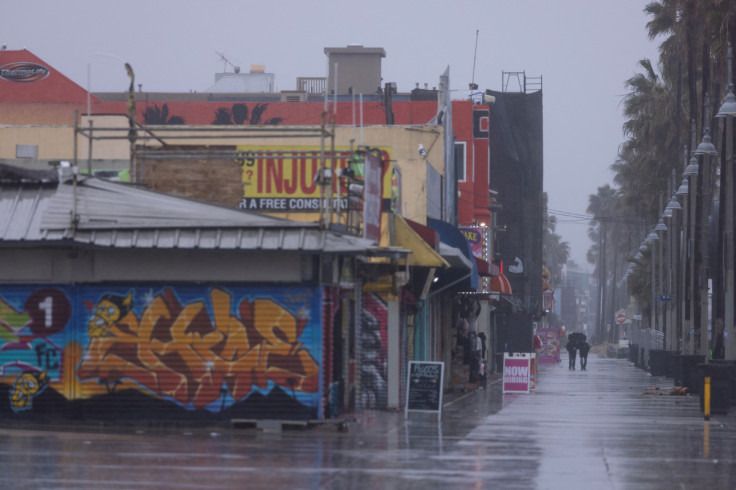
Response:
[[[85,419],[321,416],[319,288],[88,285],[79,308]]]

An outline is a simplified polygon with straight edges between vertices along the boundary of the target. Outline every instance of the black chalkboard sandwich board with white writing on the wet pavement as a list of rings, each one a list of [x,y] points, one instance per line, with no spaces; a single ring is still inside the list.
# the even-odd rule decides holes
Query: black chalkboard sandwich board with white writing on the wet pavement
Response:
[[[442,362],[409,361],[406,379],[406,413],[437,412],[442,417],[442,386],[445,364]]]

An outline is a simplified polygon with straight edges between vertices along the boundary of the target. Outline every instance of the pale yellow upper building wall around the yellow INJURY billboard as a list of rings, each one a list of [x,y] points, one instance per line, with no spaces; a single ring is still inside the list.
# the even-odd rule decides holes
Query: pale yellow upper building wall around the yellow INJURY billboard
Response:
[[[128,160],[130,155],[127,137],[128,121],[124,115],[91,116],[93,120],[93,134],[95,137],[116,136],[116,140],[94,140],[92,146],[92,158],[94,160]],[[89,122],[85,116],[80,118],[80,128],[89,129]],[[116,131],[101,131],[102,128],[117,128]],[[279,146],[312,146],[319,147],[319,127],[313,126],[313,136],[296,137],[307,127],[290,128],[286,126],[265,127],[257,129],[274,129],[267,134],[253,132],[253,128],[242,127],[203,127],[187,126],[186,131],[182,127],[166,126],[152,128],[152,131],[162,138],[167,136],[186,136],[183,139],[170,139],[172,145],[272,145]],[[194,133],[192,130],[197,129]],[[223,130],[232,129],[232,132],[223,133]],[[224,137],[224,135],[236,135],[236,138]],[[286,136],[279,136],[286,134]],[[39,160],[72,160],[74,158],[74,126],[73,125],[48,125],[48,126],[0,126],[0,159],[12,160],[16,156],[17,144],[38,145]],[[144,139],[147,135],[139,131],[138,144],[160,146],[156,140]],[[196,135],[196,137],[195,137]],[[218,137],[218,135],[221,135]],[[242,137],[241,137],[242,135]],[[442,128],[438,126],[370,126],[354,128],[341,126],[335,128],[335,146],[350,147],[360,144],[390,148],[391,163],[398,167],[402,176],[402,200],[401,214],[420,223],[426,222],[427,216],[427,192],[426,192],[426,162],[418,154],[421,143],[427,150],[427,160],[439,172],[443,174],[443,138]],[[331,141],[325,139],[326,149],[329,150]],[[77,158],[80,167],[84,168],[84,161],[88,157],[88,139],[79,136],[77,141]],[[305,220],[304,214],[289,213],[280,215],[297,220]]]

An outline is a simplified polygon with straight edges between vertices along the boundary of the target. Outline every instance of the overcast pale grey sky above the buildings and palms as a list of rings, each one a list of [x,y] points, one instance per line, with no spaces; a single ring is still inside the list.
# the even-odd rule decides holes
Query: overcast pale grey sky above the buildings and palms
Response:
[[[384,48],[384,81],[401,92],[436,86],[448,66],[455,98],[473,78],[501,90],[503,71],[525,71],[543,77],[549,207],[584,214],[588,196],[611,182],[624,82],[640,59],[657,57],[648,1],[0,0],[0,44],[29,49],[93,91],[127,89],[121,60],[144,91],[203,91],[225,66],[216,52],[243,70],[265,65],[289,90],[296,77],[325,75],[325,47],[348,44]],[[585,265],[587,221],[558,222]]]

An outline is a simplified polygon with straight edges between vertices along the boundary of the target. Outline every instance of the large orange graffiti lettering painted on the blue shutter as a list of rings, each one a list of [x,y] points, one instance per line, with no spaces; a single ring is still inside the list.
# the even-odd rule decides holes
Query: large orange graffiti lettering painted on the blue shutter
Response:
[[[271,298],[246,298],[233,315],[231,294],[212,289],[210,314],[205,300],[182,305],[163,289],[138,316],[124,306],[128,298],[106,294],[94,305],[80,380],[114,389],[129,379],[193,408],[213,404],[223,390],[241,400],[269,382],[292,392],[319,389],[318,363],[299,341],[308,322],[304,308],[292,314]]]

